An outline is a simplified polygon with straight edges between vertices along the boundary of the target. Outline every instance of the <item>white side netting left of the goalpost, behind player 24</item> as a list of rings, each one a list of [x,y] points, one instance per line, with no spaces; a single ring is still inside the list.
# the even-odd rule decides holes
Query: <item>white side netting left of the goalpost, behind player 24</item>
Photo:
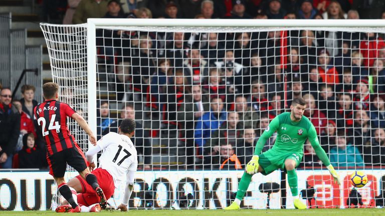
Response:
[[[87,120],[88,115],[85,114],[88,111],[86,25],[41,26],[50,55],[52,78],[60,86],[59,100],[71,105]],[[72,118],[67,120],[68,128],[85,153],[88,148],[87,134],[75,120]],[[67,180],[75,176],[75,173],[71,171],[75,171],[75,169],[67,165],[65,173]],[[57,187],[55,190],[50,206],[53,210],[61,204],[63,199]]]

